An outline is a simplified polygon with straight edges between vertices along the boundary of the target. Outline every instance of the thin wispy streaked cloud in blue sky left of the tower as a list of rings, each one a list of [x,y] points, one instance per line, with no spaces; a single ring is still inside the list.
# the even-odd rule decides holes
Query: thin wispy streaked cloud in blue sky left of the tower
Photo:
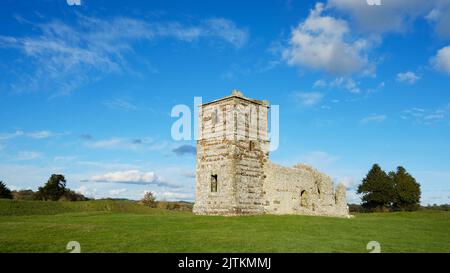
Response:
[[[248,31],[230,20],[213,18],[195,25],[176,21],[148,22],[127,17],[108,20],[78,14],[74,24],[50,21],[35,24],[35,35],[0,35],[0,48],[14,48],[30,60],[33,71],[8,82],[14,91],[50,90],[53,96],[67,95],[80,86],[98,81],[109,73],[135,73],[125,58],[135,56],[134,44],[156,39],[225,43],[235,48],[247,43]],[[126,56],[128,55],[128,56]],[[146,61],[143,61],[146,62]],[[10,64],[15,74],[15,63]],[[152,68],[154,71],[154,68]],[[145,72],[145,71],[144,71]]]

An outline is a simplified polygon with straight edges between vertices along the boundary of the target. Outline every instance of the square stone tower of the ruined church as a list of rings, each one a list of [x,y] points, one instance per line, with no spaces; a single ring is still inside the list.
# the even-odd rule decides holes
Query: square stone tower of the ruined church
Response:
[[[269,103],[230,96],[200,105],[195,214],[264,213]]]

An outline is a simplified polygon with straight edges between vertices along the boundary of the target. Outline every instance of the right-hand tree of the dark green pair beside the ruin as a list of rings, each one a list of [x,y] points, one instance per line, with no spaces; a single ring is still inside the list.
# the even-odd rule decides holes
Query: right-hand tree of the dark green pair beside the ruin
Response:
[[[393,208],[395,210],[417,210],[420,207],[420,184],[402,166],[397,172],[390,172],[394,185]]]

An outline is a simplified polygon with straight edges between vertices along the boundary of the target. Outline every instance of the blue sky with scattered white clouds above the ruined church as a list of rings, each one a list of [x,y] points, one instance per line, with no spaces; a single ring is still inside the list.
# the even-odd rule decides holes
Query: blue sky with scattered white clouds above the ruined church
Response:
[[[374,163],[401,165],[422,204],[450,203],[449,0],[5,2],[13,190],[61,173],[88,197],[193,201],[195,141],[171,136],[171,110],[239,89],[279,106],[273,162],[312,165],[350,203]]]

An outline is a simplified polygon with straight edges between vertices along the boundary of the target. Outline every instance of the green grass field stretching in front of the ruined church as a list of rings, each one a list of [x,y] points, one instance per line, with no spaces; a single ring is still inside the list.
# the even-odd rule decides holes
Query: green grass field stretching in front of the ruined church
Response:
[[[450,252],[450,212],[207,217],[127,201],[0,200],[0,252]]]

